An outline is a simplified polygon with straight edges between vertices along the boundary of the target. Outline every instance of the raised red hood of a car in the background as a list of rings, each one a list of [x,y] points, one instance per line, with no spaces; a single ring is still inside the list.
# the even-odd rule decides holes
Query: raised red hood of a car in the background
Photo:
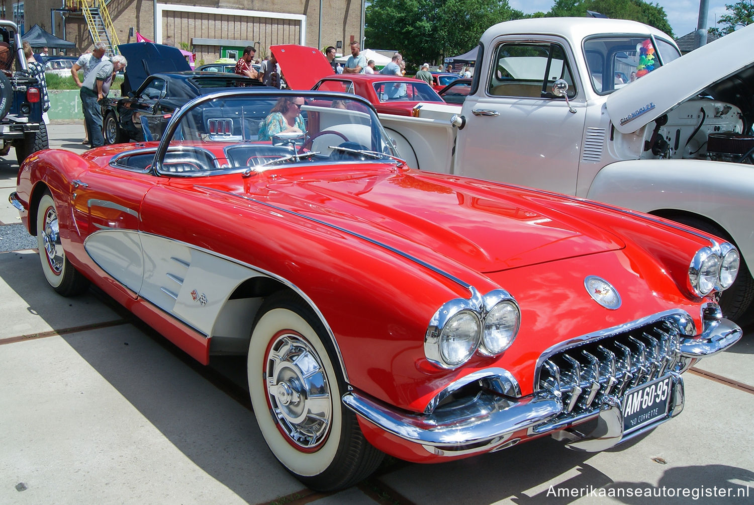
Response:
[[[285,82],[291,89],[311,89],[326,75],[333,75],[333,67],[317,48],[305,45],[271,45]]]

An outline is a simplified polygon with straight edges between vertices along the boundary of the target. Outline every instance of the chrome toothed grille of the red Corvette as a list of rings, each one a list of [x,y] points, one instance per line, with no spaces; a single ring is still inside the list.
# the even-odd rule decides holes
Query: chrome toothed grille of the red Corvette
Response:
[[[562,401],[551,427],[567,425],[599,412],[607,396],[680,371],[681,331],[673,319],[661,319],[621,334],[586,340],[546,356],[538,373],[538,391]]]

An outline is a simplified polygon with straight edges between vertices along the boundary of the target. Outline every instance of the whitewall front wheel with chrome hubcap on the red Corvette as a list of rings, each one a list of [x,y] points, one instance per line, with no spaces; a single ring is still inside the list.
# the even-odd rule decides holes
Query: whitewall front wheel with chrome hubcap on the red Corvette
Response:
[[[249,345],[251,403],[268,447],[308,488],[333,491],[369,476],[383,454],[341,402],[345,381],[310,307],[288,292],[259,309]]]

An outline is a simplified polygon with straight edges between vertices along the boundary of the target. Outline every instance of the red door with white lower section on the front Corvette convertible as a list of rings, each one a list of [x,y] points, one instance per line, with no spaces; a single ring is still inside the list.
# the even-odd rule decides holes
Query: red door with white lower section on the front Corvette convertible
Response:
[[[107,165],[84,171],[72,181],[75,228],[88,257],[131,297],[143,277],[140,206],[160,179],[145,170]]]

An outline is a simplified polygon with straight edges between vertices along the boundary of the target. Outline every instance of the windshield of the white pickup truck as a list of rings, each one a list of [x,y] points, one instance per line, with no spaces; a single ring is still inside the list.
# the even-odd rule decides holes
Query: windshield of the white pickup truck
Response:
[[[648,35],[600,36],[584,41],[584,59],[592,88],[598,94],[623,88],[680,56],[670,42]]]

